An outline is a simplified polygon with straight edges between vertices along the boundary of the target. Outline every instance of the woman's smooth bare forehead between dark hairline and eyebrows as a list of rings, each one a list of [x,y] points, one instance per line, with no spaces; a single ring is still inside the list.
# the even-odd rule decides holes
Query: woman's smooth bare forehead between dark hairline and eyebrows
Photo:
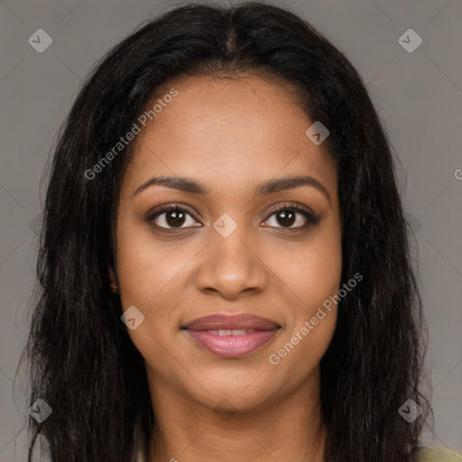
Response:
[[[336,180],[328,152],[305,134],[313,121],[280,80],[181,78],[156,101],[171,88],[178,95],[134,140],[126,181],[178,175],[236,189],[237,181],[254,185],[280,172]]]

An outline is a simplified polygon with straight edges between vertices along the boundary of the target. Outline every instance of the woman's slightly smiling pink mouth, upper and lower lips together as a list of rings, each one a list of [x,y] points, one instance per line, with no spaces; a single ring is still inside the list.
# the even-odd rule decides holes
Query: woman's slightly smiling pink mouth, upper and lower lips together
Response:
[[[266,345],[281,326],[273,319],[253,314],[213,314],[194,319],[183,327],[200,347],[209,353],[226,358],[248,356]],[[211,330],[244,329],[252,332],[242,335],[223,335]]]

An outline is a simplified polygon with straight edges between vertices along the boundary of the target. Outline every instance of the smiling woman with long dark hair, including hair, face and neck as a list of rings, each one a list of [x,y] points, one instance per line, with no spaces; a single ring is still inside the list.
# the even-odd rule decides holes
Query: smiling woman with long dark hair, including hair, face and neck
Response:
[[[383,127],[282,8],[178,7],[107,54],[54,152],[38,276],[29,460],[39,434],[67,462],[458,457],[419,448]]]

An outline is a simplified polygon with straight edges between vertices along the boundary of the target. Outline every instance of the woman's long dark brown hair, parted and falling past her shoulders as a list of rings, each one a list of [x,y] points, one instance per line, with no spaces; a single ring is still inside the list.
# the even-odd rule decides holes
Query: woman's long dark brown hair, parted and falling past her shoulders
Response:
[[[32,378],[29,461],[38,435],[53,462],[134,461],[155,430],[143,357],[111,293],[114,217],[130,145],[88,179],[85,172],[130,131],[170,79],[250,72],[297,88],[312,121],[328,127],[338,171],[340,301],[320,363],[326,460],[406,462],[430,403],[421,393],[427,333],[411,264],[390,143],[347,58],[289,10],[260,3],[185,5],[162,14],[107,53],[79,91],[51,158],[37,263],[38,294],[21,362]],[[409,423],[408,399],[424,414]]]

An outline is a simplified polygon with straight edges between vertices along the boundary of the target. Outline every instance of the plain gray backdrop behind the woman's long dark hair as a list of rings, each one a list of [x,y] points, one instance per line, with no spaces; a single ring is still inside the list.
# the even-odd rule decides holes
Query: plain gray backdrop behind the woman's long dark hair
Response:
[[[289,5],[353,62],[401,161],[430,329],[435,430],[423,442],[462,451],[462,1],[272,3]],[[29,388],[26,371],[14,374],[35,274],[39,181],[57,129],[93,63],[171,5],[180,3],[0,0],[0,461],[26,459]],[[398,42],[409,28],[423,40],[411,53]],[[38,29],[53,41],[42,53],[28,42]]]

